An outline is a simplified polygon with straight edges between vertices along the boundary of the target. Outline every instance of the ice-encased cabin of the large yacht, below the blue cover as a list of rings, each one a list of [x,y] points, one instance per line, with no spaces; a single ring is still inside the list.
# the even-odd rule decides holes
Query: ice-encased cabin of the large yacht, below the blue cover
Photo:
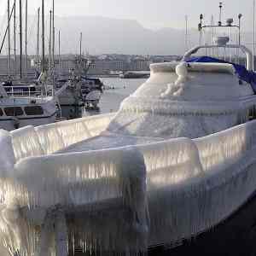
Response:
[[[203,137],[246,121],[255,103],[251,85],[241,84],[230,64],[154,64],[148,81],[122,102],[108,131]]]

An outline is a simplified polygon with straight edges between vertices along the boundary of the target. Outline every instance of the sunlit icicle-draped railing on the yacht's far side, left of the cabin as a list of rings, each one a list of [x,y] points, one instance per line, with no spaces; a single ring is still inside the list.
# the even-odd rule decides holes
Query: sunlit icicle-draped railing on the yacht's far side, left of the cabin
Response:
[[[108,113],[11,131],[15,159],[52,154],[73,143],[95,137],[107,128],[113,116],[114,113]]]

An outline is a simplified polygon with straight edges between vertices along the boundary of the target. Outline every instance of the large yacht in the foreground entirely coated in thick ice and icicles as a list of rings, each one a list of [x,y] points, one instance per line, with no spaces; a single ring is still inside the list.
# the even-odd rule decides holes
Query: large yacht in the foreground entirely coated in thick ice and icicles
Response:
[[[236,214],[256,187],[253,56],[216,43],[246,54],[246,78],[230,63],[188,62],[199,46],[151,65],[118,113],[0,131],[0,254],[137,255]]]

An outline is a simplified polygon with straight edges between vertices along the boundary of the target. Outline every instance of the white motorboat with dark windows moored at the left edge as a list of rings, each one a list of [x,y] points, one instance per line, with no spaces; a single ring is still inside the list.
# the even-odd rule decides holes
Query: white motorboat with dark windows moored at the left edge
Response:
[[[6,92],[9,90],[9,93]],[[46,125],[55,122],[56,100],[52,86],[43,91],[30,91],[24,86],[20,92],[15,87],[3,88],[0,84],[0,128],[12,131],[26,125]],[[34,87],[32,87],[34,89]]]

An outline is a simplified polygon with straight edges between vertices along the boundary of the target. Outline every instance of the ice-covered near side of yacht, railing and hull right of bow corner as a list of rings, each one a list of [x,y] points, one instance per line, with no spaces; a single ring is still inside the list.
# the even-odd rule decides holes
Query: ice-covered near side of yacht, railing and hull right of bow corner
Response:
[[[137,146],[147,170],[149,245],[209,230],[253,195],[255,128],[252,121],[201,139]]]

